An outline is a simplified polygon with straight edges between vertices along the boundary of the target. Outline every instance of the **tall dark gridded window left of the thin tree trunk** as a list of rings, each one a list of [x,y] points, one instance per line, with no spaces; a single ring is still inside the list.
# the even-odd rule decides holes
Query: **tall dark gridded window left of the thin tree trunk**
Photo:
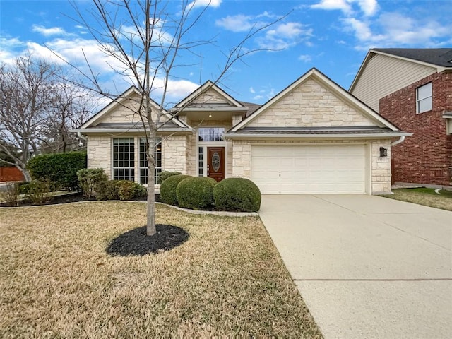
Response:
[[[135,142],[133,138],[113,139],[113,179],[135,180]]]

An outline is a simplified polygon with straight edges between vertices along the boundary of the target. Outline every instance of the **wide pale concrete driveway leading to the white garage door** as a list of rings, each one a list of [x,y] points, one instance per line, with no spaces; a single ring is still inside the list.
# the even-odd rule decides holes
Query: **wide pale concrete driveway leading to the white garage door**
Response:
[[[326,338],[452,338],[452,212],[306,194],[259,214]]]

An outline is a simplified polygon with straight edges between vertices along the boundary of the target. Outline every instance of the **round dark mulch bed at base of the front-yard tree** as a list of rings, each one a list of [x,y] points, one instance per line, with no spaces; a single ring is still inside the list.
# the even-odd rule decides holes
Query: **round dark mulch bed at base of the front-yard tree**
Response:
[[[189,239],[182,228],[172,225],[155,225],[157,233],[148,236],[146,227],[138,227],[119,235],[107,247],[107,253],[114,256],[145,256],[174,249]]]

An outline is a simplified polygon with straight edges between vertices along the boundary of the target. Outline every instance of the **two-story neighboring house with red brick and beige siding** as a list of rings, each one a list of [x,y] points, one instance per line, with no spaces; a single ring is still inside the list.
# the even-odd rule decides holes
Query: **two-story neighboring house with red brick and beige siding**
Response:
[[[393,180],[452,186],[452,49],[370,49],[350,93],[412,132],[393,147]]]

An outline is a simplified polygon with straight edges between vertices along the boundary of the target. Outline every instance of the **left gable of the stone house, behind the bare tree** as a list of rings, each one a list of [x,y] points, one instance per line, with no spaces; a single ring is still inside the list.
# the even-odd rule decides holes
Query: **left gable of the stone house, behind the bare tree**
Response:
[[[101,109],[97,114],[88,119],[80,129],[87,129],[89,127],[97,126],[99,124],[141,124],[141,117],[136,113],[139,108],[141,100],[141,93],[135,86],[131,86],[124,93],[116,97],[107,106]],[[157,111],[159,105],[154,100],[150,100],[151,105]],[[164,110],[164,116],[167,116],[165,121],[169,120],[169,113]],[[187,126],[178,119],[172,119],[172,122],[179,127],[186,128]]]

